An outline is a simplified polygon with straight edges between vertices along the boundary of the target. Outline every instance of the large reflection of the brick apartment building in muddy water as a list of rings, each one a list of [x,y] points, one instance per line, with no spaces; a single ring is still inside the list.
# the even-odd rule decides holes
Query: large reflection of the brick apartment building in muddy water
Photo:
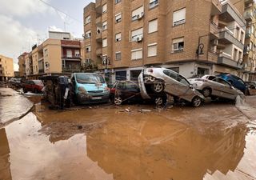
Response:
[[[105,126],[87,136],[87,155],[114,179],[202,179],[226,174],[243,156],[246,126],[198,134],[175,123],[150,122],[122,130]]]

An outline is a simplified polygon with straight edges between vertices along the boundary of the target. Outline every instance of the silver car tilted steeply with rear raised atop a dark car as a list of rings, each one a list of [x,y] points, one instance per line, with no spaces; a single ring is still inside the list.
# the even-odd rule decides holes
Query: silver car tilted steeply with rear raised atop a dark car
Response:
[[[142,70],[138,77],[142,98],[150,98],[150,92],[170,94],[176,100],[191,102],[193,106],[200,106],[204,96],[195,90],[190,82],[181,74],[163,67],[152,67]]]

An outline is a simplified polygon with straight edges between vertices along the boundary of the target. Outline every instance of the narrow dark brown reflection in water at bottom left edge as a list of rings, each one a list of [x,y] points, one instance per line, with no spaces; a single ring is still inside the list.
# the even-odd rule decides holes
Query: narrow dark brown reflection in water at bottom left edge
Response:
[[[0,129],[0,179],[11,179],[10,174],[10,148],[6,137],[6,129]]]

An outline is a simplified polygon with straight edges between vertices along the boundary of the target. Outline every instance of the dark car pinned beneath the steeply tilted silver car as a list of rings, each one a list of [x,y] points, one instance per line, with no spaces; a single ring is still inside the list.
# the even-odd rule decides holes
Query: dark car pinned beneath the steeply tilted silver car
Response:
[[[154,102],[161,106],[166,103],[166,94],[155,94],[152,98],[143,99],[138,83],[132,81],[118,81],[110,88],[110,100],[115,105],[126,102]]]

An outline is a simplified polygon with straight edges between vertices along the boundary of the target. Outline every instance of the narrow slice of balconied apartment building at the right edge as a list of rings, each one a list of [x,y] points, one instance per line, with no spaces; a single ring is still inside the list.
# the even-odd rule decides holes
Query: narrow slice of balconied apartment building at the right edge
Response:
[[[244,78],[246,81],[256,81],[256,6],[253,0],[245,1],[243,16],[246,19],[246,40],[243,54]]]

